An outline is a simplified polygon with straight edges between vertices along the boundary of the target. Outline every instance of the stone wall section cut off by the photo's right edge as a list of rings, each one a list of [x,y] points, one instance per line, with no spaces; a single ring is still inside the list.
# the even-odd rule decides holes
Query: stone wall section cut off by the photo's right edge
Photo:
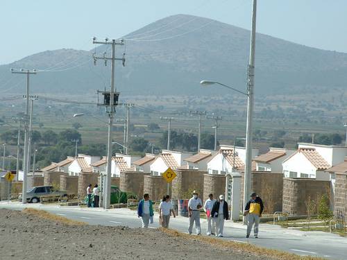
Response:
[[[347,174],[335,173],[334,214],[347,221]]]

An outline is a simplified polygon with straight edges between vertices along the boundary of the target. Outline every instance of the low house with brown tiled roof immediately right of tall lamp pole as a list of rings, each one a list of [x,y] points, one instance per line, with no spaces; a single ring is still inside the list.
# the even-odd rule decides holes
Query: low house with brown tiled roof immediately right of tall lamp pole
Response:
[[[259,155],[253,159],[255,171],[269,171],[282,173],[282,162],[295,153],[295,150],[285,148],[270,148],[269,152]]]

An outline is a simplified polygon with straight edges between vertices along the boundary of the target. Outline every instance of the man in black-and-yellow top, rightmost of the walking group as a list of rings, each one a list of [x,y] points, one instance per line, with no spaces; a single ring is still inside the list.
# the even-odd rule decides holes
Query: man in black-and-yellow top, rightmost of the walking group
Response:
[[[262,199],[257,196],[257,193],[253,192],[251,194],[251,200],[247,202],[247,205],[244,209],[244,216],[247,216],[247,235],[248,239],[251,234],[252,226],[254,223],[254,237],[258,238],[258,229],[259,229],[259,221],[262,216],[262,211],[264,210],[264,205],[262,204]]]

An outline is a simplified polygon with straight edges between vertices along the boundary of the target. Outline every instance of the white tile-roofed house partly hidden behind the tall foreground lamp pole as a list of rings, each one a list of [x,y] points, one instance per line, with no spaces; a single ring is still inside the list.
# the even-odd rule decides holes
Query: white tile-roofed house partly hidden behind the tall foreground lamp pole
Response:
[[[209,174],[226,174],[232,173],[232,166],[235,166],[239,171],[244,171],[246,162],[246,148],[235,147],[234,160],[233,146],[221,146],[218,153],[214,154],[208,162]],[[252,149],[252,157],[254,158],[259,153],[258,149]],[[255,164],[252,166],[255,170]]]

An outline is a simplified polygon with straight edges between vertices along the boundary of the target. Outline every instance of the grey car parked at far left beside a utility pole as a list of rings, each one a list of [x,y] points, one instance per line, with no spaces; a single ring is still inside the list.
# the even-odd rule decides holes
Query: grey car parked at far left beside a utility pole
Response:
[[[66,197],[70,193],[69,191],[57,191],[53,186],[37,186],[26,193],[26,201],[37,203],[40,202],[40,198]],[[19,194],[18,200],[22,201],[22,193]]]

